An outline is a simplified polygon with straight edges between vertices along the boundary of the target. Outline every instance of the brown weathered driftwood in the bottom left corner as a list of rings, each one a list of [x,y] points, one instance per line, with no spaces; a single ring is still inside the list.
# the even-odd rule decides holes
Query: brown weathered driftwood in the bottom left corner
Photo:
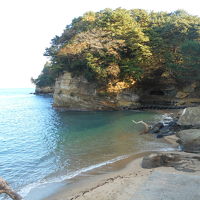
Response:
[[[0,194],[6,193],[13,200],[21,200],[22,197],[17,194],[8,183],[0,177]]]

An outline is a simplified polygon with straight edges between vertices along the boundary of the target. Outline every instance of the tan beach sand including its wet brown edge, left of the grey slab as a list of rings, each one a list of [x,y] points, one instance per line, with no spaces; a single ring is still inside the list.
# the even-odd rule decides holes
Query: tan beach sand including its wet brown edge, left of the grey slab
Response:
[[[89,171],[74,178],[74,183],[44,200],[108,200],[128,199],[127,187],[131,187],[131,195],[143,184],[156,169],[143,169],[141,162],[144,156],[159,151],[141,152],[115,163]],[[173,151],[174,152],[174,151]],[[103,196],[102,196],[103,195]],[[115,195],[119,195],[116,197]],[[124,196],[125,195],[125,196]],[[119,198],[120,197],[120,198]]]

